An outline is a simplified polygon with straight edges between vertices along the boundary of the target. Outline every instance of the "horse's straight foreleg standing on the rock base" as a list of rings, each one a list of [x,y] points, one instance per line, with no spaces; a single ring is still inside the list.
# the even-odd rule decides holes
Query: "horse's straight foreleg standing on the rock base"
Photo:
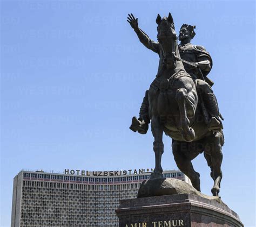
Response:
[[[161,167],[161,156],[164,153],[163,143],[163,125],[160,124],[160,120],[157,117],[151,119],[151,130],[154,137],[153,150],[156,157],[156,166],[154,172],[150,175],[150,179],[163,178],[163,168]]]

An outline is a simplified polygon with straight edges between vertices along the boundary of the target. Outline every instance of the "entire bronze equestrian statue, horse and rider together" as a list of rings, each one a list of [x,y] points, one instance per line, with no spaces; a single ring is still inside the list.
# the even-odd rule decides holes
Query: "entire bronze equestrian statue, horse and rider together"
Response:
[[[171,13],[157,16],[157,39],[151,40],[138,27],[132,14],[127,21],[139,40],[159,54],[156,79],[146,91],[140,117],[133,117],[130,129],[145,134],[151,120],[154,137],[153,150],[156,166],[151,179],[163,178],[161,155],[164,152],[163,133],[172,138],[174,160],[180,171],[190,178],[200,191],[199,173],[194,171],[191,160],[204,153],[214,181],[212,194],[218,196],[222,178],[221,148],[224,145],[223,119],[213,94],[213,82],[207,78],[212,67],[210,54],[202,46],[192,45],[195,26],[184,24],[179,33],[180,45],[174,30]]]

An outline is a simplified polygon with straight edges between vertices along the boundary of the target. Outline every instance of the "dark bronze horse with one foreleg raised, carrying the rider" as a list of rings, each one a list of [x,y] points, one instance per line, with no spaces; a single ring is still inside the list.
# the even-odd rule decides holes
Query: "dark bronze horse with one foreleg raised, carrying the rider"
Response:
[[[172,138],[174,160],[181,172],[190,178],[192,185],[200,191],[200,175],[191,160],[204,152],[211,177],[214,180],[213,196],[218,196],[222,178],[221,162],[224,145],[222,131],[208,130],[195,82],[186,73],[180,55],[177,36],[171,13],[163,19],[158,15],[157,39],[164,56],[163,68],[149,89],[149,114],[154,137],[153,150],[156,167],[151,179],[162,178],[161,155],[164,153],[163,133]]]

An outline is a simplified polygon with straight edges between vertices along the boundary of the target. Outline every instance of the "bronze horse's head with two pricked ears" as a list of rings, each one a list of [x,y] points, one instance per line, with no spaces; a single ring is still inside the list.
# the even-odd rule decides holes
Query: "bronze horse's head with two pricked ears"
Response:
[[[171,13],[163,19],[158,14],[156,22],[158,24],[157,39],[163,51],[165,66],[167,69],[176,68],[176,58],[174,58],[173,53],[175,52],[177,36]]]

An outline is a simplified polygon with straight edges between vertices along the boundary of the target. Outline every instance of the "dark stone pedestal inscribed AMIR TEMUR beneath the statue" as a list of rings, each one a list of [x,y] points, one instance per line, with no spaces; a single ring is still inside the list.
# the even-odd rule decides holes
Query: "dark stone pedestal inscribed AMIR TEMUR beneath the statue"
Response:
[[[116,214],[119,227],[244,226],[223,202],[194,194],[122,200]]]

